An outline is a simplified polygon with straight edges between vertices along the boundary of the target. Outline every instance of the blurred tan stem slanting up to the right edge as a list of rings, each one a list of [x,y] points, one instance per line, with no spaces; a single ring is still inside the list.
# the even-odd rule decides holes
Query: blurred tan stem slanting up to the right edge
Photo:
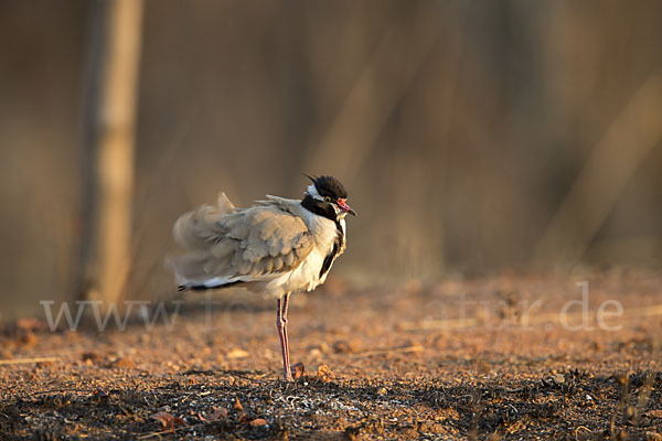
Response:
[[[662,76],[651,75],[594,148],[534,254],[538,266],[576,265],[618,197],[662,139]]]

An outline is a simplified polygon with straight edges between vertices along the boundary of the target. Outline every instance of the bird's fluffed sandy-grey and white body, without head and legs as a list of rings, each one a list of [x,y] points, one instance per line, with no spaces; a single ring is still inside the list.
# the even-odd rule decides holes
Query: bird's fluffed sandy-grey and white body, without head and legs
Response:
[[[249,208],[235,208],[222,200],[217,207],[204,205],[174,224],[177,241],[189,249],[171,259],[180,286],[242,282],[281,295],[319,284],[320,277],[311,275],[313,266],[322,266],[329,245],[320,240],[324,235],[311,232],[299,201],[268,196]]]

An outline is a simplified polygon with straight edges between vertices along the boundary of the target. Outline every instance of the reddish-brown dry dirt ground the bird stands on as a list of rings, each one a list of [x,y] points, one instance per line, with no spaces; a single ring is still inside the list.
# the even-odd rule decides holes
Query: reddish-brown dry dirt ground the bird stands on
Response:
[[[275,301],[201,300],[172,325],[6,325],[0,439],[662,439],[658,273],[330,280],[292,300],[292,384]]]

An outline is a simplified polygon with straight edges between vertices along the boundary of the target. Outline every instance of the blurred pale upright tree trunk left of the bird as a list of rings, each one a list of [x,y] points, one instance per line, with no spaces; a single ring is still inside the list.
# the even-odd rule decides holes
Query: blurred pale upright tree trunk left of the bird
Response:
[[[142,0],[97,0],[85,110],[78,295],[120,300],[130,267],[134,143]]]

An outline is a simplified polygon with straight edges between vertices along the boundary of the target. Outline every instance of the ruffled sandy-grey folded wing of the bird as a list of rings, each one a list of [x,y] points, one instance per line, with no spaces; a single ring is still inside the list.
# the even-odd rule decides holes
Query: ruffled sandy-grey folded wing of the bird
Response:
[[[183,215],[174,229],[182,245],[195,245],[174,262],[175,271],[195,281],[273,277],[296,268],[314,245],[303,220],[276,204],[223,215],[203,206]]]

